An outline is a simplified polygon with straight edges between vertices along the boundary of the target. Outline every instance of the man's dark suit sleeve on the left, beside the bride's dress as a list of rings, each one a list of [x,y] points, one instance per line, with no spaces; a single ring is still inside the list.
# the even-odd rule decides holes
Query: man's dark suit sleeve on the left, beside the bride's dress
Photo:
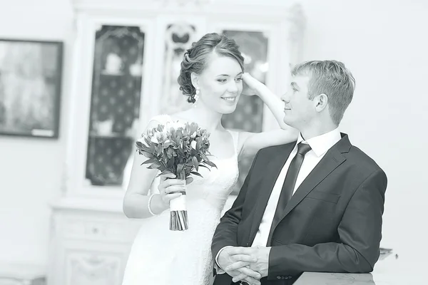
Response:
[[[228,212],[225,212],[223,217],[220,219],[220,224],[218,224],[217,229],[215,229],[213,243],[211,244],[213,257],[217,257],[218,252],[220,249],[223,249],[223,247],[238,246],[238,224],[240,223],[243,212],[243,205],[245,202],[245,196],[247,195],[248,183],[250,182],[251,175],[254,171],[254,166],[261,151],[262,150],[259,150],[255,155],[253,165],[251,165],[250,171],[248,172],[247,177],[245,177],[245,181],[240,189],[238,197],[235,199],[235,202],[233,202],[233,205],[228,210]]]

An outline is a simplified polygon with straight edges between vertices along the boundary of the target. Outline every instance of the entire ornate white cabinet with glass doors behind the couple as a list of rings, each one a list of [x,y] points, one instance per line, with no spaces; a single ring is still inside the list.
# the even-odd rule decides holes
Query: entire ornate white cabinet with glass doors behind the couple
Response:
[[[154,115],[190,108],[177,83],[185,49],[205,33],[226,33],[245,54],[246,71],[282,94],[300,61],[305,19],[287,1],[72,2],[67,159],[61,199],[52,203],[48,281],[117,285],[139,228],[122,212],[135,139]],[[241,99],[225,127],[277,128],[258,97]],[[240,164],[235,194],[249,167]]]

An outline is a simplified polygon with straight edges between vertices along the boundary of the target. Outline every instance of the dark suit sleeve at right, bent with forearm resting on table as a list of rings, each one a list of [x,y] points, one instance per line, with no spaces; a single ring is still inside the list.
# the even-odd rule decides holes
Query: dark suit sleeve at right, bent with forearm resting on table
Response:
[[[377,170],[355,190],[337,232],[340,242],[287,244],[275,247],[269,257],[267,279],[303,271],[368,273],[379,258],[382,214],[387,177]]]

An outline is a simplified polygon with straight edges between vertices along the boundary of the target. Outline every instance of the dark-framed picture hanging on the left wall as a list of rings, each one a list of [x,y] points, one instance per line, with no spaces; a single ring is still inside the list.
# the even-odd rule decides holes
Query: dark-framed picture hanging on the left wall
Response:
[[[63,43],[0,38],[0,135],[58,138]]]

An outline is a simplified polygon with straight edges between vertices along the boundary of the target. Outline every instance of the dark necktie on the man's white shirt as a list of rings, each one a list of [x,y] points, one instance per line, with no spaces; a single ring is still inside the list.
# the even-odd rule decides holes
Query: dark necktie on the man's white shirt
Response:
[[[269,237],[267,239],[268,243],[270,243],[270,239],[272,237],[273,227],[275,227],[275,225],[279,222],[287,202],[291,199],[292,192],[296,185],[297,175],[299,174],[300,167],[302,166],[303,160],[305,159],[305,154],[310,150],[310,145],[307,145],[306,143],[299,142],[297,145],[297,154],[295,157],[293,157],[290,166],[288,167],[287,175],[285,175],[284,184],[282,185],[280,199],[278,200]]]

